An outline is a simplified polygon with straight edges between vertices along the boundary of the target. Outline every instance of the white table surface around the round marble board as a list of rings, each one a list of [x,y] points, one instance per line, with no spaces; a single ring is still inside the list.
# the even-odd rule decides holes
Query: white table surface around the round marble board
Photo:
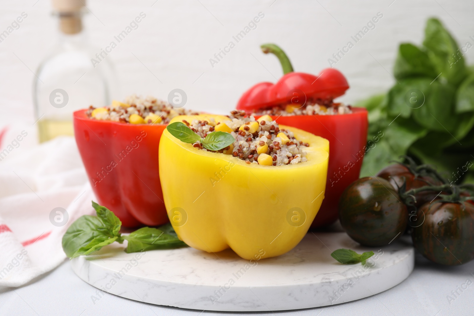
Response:
[[[456,294],[457,298],[451,294],[457,287],[461,288],[466,280],[474,281],[473,275],[474,262],[442,267],[417,254],[415,270],[407,280],[373,297],[295,311],[219,313],[155,306],[112,294],[105,294],[94,304],[91,296],[96,295],[97,289],[79,279],[69,262],[65,261],[32,284],[18,289],[0,289],[0,315],[474,315],[474,283],[463,292],[458,290],[460,295]],[[455,299],[448,302],[448,295]]]

